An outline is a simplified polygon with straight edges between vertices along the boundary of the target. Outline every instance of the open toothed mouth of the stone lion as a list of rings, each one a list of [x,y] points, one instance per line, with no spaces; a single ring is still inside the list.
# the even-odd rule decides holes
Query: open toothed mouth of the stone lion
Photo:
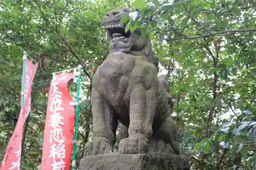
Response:
[[[129,41],[129,39],[131,37],[131,32],[129,30],[125,33],[125,26],[126,26],[126,24],[121,25],[120,23],[116,23],[116,24],[111,23],[111,24],[105,26],[105,29],[109,34],[111,42],[119,41],[119,42],[126,43]]]

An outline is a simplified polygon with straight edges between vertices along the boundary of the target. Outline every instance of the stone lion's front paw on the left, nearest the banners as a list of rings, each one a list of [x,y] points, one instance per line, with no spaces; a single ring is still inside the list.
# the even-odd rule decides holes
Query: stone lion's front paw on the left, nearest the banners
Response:
[[[113,147],[109,144],[105,137],[95,137],[93,141],[88,141],[84,146],[84,153],[86,156],[111,154]]]

